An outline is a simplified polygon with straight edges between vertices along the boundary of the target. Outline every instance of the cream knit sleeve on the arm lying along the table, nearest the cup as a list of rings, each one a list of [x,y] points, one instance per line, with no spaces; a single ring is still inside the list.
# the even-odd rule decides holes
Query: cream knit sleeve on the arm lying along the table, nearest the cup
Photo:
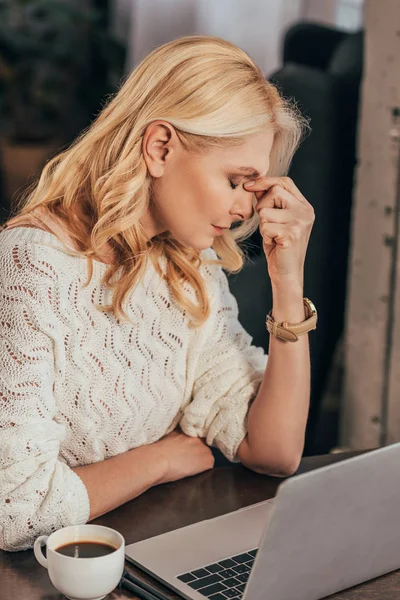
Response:
[[[32,265],[30,265],[32,267]],[[50,273],[50,274],[49,274]],[[0,548],[24,550],[41,534],[85,523],[82,480],[59,459],[53,310],[55,274],[0,260]]]

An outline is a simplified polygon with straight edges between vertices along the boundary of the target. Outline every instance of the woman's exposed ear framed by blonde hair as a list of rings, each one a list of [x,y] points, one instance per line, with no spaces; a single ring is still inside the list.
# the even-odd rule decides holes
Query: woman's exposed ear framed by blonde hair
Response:
[[[143,156],[150,175],[161,177],[177,147],[178,136],[166,121],[153,121],[143,136]]]

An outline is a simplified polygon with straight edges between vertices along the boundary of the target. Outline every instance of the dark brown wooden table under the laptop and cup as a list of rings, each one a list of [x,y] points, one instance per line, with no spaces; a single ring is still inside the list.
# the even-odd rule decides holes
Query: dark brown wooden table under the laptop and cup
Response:
[[[356,453],[353,453],[356,454]],[[299,472],[337,462],[352,454],[334,454],[303,459]],[[120,531],[127,544],[170,531],[203,519],[216,517],[272,498],[280,479],[257,475],[239,464],[211,471],[175,483],[152,488],[117,510],[93,521]],[[371,540],[372,543],[372,540]],[[129,567],[138,574],[134,567]],[[143,579],[149,579],[141,575]],[[162,589],[162,586],[159,586]],[[171,599],[177,598],[168,593]],[[60,600],[64,598],[51,584],[31,550],[0,551],[0,600]],[[116,590],[107,600],[131,598]],[[400,571],[369,581],[330,597],[331,600],[398,600]]]

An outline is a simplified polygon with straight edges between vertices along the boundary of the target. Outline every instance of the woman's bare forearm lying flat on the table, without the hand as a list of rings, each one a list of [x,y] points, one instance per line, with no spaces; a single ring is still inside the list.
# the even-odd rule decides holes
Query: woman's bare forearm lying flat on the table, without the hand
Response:
[[[92,520],[161,483],[165,465],[150,444],[72,470],[87,489]]]

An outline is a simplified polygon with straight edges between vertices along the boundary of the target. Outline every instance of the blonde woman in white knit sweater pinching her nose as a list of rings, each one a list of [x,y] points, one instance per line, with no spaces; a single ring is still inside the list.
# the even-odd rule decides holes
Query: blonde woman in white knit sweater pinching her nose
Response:
[[[43,169],[0,233],[1,548],[210,469],[209,446],[296,470],[308,336],[275,327],[267,365],[222,267],[261,223],[271,319],[305,321],[314,213],[283,176],[301,130],[247,54],[188,36]]]

